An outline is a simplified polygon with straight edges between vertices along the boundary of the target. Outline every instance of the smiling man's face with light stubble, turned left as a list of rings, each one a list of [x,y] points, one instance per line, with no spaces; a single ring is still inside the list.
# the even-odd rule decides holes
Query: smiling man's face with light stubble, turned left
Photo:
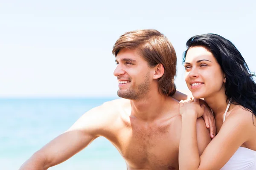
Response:
[[[118,79],[117,95],[125,99],[141,99],[150,89],[152,81],[148,63],[136,50],[123,48],[116,56],[114,75]]]

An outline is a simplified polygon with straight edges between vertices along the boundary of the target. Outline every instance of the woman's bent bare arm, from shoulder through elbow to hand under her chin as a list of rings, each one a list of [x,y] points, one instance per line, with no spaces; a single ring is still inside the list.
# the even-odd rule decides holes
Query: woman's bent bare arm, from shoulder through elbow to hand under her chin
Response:
[[[193,108],[191,105],[198,106]],[[198,112],[202,112],[203,108],[200,111],[200,106],[196,102],[185,103],[183,109],[182,107],[180,105],[180,111],[182,112],[179,148],[180,170],[221,169],[241,144],[247,141],[248,136],[250,136],[251,131],[248,129],[251,129],[251,125],[248,121],[252,122],[251,115],[233,111],[222,125],[218,135],[208,144],[202,155],[199,156],[196,119],[200,116]]]

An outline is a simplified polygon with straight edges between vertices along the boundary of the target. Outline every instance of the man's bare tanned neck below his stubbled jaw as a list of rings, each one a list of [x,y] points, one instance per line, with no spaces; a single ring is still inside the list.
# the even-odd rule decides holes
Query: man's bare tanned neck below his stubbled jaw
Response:
[[[166,101],[170,97],[160,94],[147,94],[142,99],[131,100],[131,116],[135,116],[146,122],[155,119],[166,113]]]

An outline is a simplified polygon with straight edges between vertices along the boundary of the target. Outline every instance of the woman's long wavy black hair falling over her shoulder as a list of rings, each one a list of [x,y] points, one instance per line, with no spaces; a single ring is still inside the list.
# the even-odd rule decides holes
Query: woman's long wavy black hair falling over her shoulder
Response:
[[[187,50],[183,55],[183,63],[189,48],[202,46],[210,51],[225,74],[225,94],[231,103],[241,105],[256,116],[256,84],[254,74],[232,42],[217,34],[202,34],[191,37],[186,42]]]

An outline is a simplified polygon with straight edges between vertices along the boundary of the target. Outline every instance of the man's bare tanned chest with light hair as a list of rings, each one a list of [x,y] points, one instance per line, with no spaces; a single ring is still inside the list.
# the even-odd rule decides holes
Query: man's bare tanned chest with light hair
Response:
[[[134,169],[178,169],[176,130],[170,125],[132,125],[117,132],[116,147]]]

